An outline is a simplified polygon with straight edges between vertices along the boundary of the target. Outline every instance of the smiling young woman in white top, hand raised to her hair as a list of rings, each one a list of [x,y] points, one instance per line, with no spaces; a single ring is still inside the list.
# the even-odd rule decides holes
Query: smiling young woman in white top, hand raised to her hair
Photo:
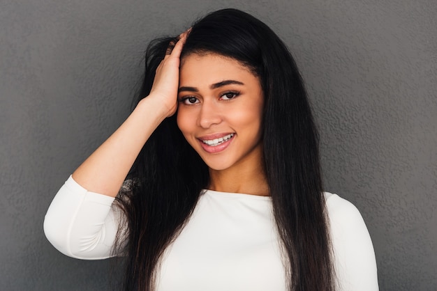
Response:
[[[125,290],[378,290],[360,212],[323,192],[295,61],[234,9],[151,43],[131,116],[44,228],[73,258],[123,255]]]

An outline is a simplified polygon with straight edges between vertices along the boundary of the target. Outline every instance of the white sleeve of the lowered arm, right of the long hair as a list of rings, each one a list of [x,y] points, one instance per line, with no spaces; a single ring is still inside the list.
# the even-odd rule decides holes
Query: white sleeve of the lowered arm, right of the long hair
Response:
[[[360,212],[336,194],[327,197],[327,210],[336,265],[336,290],[379,290],[375,252]]]

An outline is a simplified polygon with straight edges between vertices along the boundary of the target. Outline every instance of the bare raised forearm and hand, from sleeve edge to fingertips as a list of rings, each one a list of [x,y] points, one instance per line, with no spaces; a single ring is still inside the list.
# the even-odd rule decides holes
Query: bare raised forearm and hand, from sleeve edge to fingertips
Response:
[[[73,179],[88,191],[116,196],[138,153],[156,127],[177,109],[179,56],[188,31],[156,69],[147,98],[143,98],[125,122],[73,173]]]

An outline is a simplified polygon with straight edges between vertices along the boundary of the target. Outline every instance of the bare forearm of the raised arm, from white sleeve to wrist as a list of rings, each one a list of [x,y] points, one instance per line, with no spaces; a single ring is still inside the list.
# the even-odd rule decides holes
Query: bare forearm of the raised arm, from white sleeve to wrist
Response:
[[[126,121],[73,173],[88,191],[116,196],[142,146],[168,115],[155,96],[143,99]]]

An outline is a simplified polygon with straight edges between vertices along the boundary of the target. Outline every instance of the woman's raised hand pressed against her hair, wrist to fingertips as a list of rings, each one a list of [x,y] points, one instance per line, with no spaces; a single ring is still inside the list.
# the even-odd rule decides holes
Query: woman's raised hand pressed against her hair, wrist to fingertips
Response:
[[[164,106],[165,117],[172,116],[177,109],[177,89],[179,86],[179,65],[182,48],[189,30],[179,36],[174,44],[170,43],[163,61],[156,68],[154,83],[147,98],[156,98]]]

